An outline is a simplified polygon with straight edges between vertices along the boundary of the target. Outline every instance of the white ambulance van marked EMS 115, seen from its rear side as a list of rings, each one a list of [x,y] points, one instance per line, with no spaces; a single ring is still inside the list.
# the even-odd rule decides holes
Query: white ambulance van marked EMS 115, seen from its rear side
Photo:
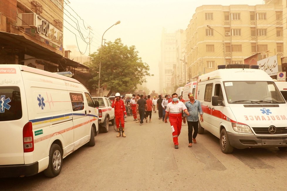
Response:
[[[0,64],[0,97],[0,177],[55,177],[63,158],[95,145],[98,102],[77,80]]]

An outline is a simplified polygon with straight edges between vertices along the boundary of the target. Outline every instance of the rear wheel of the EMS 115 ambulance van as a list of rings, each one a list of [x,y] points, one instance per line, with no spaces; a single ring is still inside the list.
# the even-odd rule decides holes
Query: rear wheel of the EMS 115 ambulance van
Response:
[[[58,144],[52,144],[49,151],[49,164],[48,168],[44,170],[47,177],[58,176],[61,172],[63,165],[63,151]]]

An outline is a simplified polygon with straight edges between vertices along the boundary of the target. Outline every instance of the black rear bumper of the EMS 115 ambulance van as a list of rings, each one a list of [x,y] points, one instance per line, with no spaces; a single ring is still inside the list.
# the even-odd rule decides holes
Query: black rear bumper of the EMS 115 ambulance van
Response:
[[[38,161],[32,164],[0,165],[0,178],[32,176],[38,170]]]

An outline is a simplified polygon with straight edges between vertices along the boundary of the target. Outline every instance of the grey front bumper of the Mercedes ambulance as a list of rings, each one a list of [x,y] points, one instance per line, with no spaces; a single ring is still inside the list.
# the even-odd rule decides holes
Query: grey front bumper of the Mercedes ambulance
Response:
[[[231,146],[237,149],[249,147],[287,147],[287,136],[259,136],[227,132]]]

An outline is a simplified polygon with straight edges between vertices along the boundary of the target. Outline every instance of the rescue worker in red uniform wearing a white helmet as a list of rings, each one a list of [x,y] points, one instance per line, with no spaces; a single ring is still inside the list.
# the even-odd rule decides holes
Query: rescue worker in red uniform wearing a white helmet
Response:
[[[121,100],[120,97],[121,97],[120,93],[116,93],[115,100],[112,103],[112,108],[115,108],[116,125],[117,125],[117,129],[119,133],[117,137],[121,136],[121,132],[122,132],[122,136],[126,137],[126,135],[124,134],[124,116],[126,117],[126,107],[124,105],[124,101]],[[121,132],[120,132],[120,125],[119,125],[120,121],[121,121],[121,127],[122,127]]]

